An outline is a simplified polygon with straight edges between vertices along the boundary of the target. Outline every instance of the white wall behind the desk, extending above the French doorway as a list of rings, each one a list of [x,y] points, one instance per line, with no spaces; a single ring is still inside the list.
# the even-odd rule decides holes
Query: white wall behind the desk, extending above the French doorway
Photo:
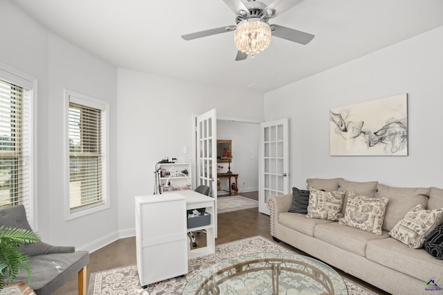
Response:
[[[118,70],[118,227],[134,234],[134,196],[154,193],[156,162],[192,160],[192,114],[262,120],[263,96]],[[187,146],[188,153],[183,153]]]

